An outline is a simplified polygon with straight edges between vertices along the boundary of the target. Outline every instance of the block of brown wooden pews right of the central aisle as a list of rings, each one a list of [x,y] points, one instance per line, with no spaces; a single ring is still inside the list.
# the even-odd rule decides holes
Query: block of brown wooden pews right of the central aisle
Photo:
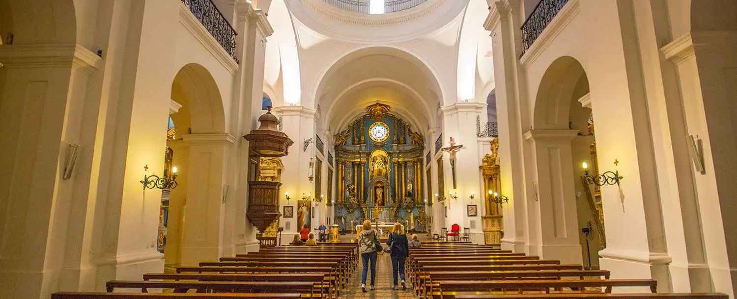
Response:
[[[727,299],[724,294],[657,293],[653,279],[611,279],[607,270],[584,270],[470,242],[422,243],[406,264],[422,298],[684,298]],[[612,293],[640,287],[645,293]],[[602,290],[603,289],[603,290]]]

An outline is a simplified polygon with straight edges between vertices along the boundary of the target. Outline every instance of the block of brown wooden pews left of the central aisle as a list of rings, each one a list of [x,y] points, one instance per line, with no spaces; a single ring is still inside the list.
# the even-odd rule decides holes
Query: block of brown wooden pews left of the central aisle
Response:
[[[141,281],[108,281],[107,292],[57,292],[52,299],[338,298],[357,267],[357,244],[287,245],[223,257]],[[116,292],[135,289],[136,292]],[[164,289],[165,292],[148,292]]]

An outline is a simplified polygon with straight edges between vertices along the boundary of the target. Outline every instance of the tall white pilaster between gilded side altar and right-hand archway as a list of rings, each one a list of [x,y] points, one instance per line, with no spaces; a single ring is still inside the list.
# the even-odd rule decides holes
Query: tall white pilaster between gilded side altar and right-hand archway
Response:
[[[525,106],[524,70],[520,68],[520,1],[491,1],[489,17],[484,22],[491,32],[494,53],[494,77],[497,95],[497,123],[501,185],[509,203],[503,205],[504,237],[502,248],[525,251],[528,236],[526,198],[536,196],[534,181],[525,179],[525,148],[523,132],[530,128],[530,115]]]

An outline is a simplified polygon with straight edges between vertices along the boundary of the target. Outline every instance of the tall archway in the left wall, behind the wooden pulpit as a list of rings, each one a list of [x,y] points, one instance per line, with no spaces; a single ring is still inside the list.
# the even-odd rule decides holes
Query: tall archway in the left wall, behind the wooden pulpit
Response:
[[[159,234],[166,231],[166,267],[219,256],[223,170],[227,148],[234,142],[225,134],[223,99],[217,84],[202,65],[190,63],[178,71],[171,99],[175,137],[167,139],[167,152],[173,155],[164,165],[178,167],[179,186],[162,194],[161,209],[167,210],[168,221],[166,226],[160,225]]]

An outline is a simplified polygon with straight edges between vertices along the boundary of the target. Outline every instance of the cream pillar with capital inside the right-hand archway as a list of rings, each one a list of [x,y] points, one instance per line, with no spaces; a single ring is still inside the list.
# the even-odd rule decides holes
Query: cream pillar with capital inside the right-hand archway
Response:
[[[537,197],[528,198],[528,251],[543,259],[559,259],[562,264],[581,264],[570,145],[577,133],[574,130],[525,133],[534,147],[537,167],[532,167],[531,173],[539,187]]]

